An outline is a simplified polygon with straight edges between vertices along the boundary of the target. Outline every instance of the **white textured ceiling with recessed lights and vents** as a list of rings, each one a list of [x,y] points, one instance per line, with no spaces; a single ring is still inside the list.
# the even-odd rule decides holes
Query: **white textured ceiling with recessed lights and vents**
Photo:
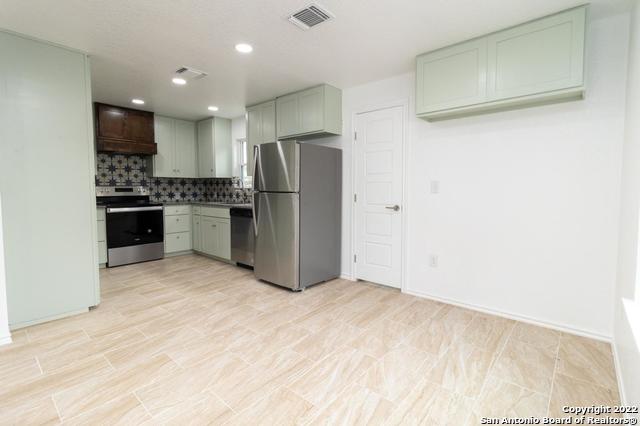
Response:
[[[323,0],[336,18],[310,31],[286,17],[304,0],[0,0],[0,28],[92,56],[95,100],[187,119],[327,82],[340,88],[410,71],[416,54],[554,13],[582,0]],[[595,0],[613,14],[626,0]],[[235,52],[248,42],[250,55]],[[173,72],[209,73],[185,87]]]

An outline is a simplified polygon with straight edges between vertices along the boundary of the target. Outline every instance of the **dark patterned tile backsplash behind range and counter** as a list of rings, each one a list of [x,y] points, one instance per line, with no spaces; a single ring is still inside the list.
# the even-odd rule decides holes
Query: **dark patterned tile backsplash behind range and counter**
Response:
[[[251,193],[241,187],[240,178],[160,178],[150,177],[147,172],[145,157],[99,153],[96,186],[147,186],[151,190],[151,199],[156,202],[251,202]]]

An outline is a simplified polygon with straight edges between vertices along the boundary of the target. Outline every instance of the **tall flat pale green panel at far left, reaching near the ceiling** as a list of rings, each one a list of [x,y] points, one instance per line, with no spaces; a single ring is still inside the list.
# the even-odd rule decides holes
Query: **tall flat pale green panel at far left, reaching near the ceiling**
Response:
[[[85,54],[14,33],[0,31],[0,58],[0,194],[16,329],[100,301],[91,78]]]

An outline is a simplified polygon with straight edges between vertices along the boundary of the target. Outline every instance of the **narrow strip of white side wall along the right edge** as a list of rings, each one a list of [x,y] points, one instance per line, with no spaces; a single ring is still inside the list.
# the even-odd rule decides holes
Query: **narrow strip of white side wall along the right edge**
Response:
[[[638,290],[638,220],[640,208],[640,5],[636,2],[631,14],[632,30],[629,44],[627,82],[627,117],[622,168],[622,202],[620,209],[620,242],[618,285],[615,299],[615,347],[622,394],[628,403],[640,401],[640,348],[625,312],[624,299],[636,299]],[[633,308],[633,304],[627,304]],[[639,309],[636,304],[635,309]],[[640,314],[640,313],[638,313]],[[636,331],[637,333],[637,331]]]

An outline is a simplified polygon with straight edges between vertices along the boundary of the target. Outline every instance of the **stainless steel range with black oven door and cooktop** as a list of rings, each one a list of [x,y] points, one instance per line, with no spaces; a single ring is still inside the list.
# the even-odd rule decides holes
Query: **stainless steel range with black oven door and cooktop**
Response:
[[[106,207],[108,267],[164,257],[163,207],[148,188],[97,187],[96,203]]]

